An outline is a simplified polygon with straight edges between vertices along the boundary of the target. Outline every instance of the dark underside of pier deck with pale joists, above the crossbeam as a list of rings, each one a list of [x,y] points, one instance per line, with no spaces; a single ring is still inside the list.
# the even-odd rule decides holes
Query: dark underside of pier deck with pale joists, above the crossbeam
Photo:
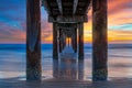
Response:
[[[45,0],[43,0],[44,2]],[[47,9],[52,16],[56,15],[84,15],[87,14],[87,10],[89,10],[89,4],[91,0],[46,0],[50,6]],[[46,6],[44,6],[46,7]]]

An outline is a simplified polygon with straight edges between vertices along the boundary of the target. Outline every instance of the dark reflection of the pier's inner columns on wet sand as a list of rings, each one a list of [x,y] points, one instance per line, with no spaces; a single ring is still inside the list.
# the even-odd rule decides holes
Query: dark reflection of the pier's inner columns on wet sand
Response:
[[[84,79],[84,59],[53,59],[53,77],[58,79]]]

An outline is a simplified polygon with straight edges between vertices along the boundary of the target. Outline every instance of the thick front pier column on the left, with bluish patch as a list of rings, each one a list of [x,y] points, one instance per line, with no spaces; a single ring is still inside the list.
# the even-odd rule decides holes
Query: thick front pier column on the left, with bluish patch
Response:
[[[41,80],[40,0],[26,0],[26,80]]]

